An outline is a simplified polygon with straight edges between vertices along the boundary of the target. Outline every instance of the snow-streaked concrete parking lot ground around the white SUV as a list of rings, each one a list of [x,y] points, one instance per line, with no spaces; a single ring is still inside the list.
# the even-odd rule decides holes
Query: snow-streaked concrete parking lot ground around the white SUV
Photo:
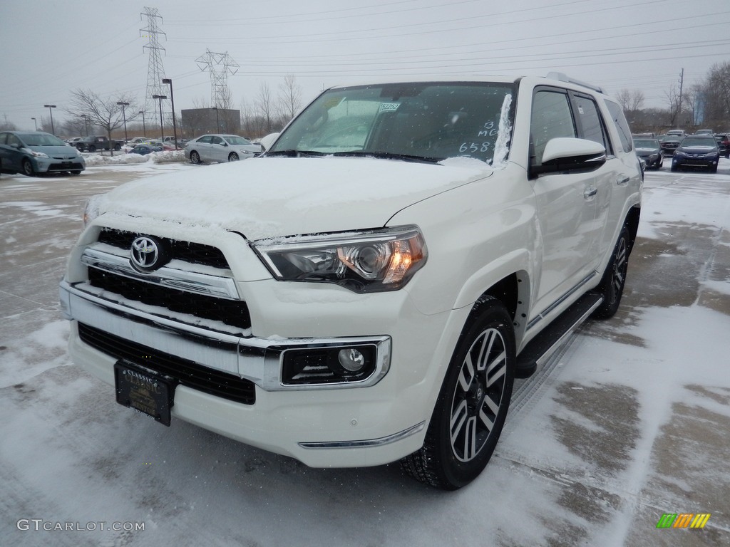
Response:
[[[487,469],[450,493],[162,427],[72,365],[58,281],[85,198],[186,169],[215,166],[0,175],[1,546],[730,545],[730,160],[647,172],[618,314],[519,381]]]

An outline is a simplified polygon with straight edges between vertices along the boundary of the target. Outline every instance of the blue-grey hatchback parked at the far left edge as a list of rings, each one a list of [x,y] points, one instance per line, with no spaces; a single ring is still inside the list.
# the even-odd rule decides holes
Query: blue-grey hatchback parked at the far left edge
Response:
[[[4,131],[0,133],[2,170],[33,176],[66,171],[80,174],[86,162],[75,148],[43,131]]]

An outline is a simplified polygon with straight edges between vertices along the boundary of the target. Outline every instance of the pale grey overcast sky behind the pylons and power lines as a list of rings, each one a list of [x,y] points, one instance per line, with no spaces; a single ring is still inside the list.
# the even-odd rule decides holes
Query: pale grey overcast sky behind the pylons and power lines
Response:
[[[235,108],[255,104],[262,82],[278,93],[286,75],[306,103],[378,77],[548,71],[666,107],[682,69],[688,90],[730,61],[730,0],[3,0],[0,121],[32,129],[44,104],[63,120],[79,88],[142,104],[145,7],[161,16],[177,112],[212,103],[210,71],[196,64],[207,50],[239,65],[228,76]]]

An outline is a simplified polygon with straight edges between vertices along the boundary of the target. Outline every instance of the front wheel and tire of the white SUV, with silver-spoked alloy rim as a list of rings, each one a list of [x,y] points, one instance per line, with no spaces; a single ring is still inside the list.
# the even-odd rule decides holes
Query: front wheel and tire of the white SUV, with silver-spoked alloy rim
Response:
[[[459,337],[423,447],[401,460],[406,473],[445,490],[477,478],[504,427],[515,354],[510,314],[499,300],[483,298]]]

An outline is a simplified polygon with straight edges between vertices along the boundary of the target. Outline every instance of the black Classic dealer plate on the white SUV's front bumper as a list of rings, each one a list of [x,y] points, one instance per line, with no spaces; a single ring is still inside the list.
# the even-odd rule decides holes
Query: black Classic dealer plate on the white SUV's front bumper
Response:
[[[117,403],[152,416],[169,426],[177,381],[128,361],[114,365]]]

